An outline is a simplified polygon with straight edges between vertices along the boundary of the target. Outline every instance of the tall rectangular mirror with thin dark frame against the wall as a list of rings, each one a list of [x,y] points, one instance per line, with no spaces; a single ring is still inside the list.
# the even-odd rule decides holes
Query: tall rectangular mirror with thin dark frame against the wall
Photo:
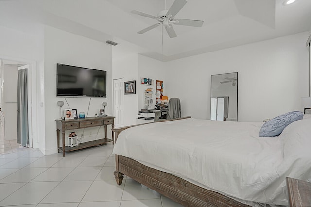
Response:
[[[238,73],[211,76],[210,120],[238,121]]]

